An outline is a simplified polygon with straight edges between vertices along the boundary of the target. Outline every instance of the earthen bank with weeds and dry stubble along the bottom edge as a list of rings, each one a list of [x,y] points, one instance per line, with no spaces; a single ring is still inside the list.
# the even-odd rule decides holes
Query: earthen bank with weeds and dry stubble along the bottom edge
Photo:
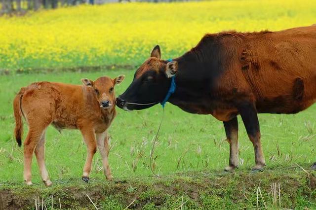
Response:
[[[259,174],[190,173],[106,182],[69,180],[51,188],[0,185],[0,210],[36,209],[236,209],[316,208],[316,173],[298,169]],[[272,190],[276,183],[276,196]],[[279,184],[279,188],[278,188]],[[90,201],[92,200],[92,202]],[[59,203],[60,202],[60,203]]]

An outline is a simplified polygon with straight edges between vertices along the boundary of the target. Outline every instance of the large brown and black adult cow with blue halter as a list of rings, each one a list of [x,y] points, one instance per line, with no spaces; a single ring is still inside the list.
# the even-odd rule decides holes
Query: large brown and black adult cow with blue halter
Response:
[[[238,166],[240,114],[254,146],[253,170],[261,171],[265,158],[257,114],[296,113],[316,102],[316,26],[208,34],[196,47],[168,61],[161,59],[156,46],[117,105],[133,110],[165,101],[224,122],[230,143],[227,171]]]

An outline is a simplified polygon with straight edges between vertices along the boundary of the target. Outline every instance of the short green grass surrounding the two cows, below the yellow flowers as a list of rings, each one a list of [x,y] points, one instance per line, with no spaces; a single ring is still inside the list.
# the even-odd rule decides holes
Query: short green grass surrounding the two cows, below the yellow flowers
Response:
[[[134,71],[103,70],[93,73],[65,72],[57,74],[1,76],[0,188],[17,188],[21,191],[26,189],[23,184],[23,147],[20,150],[13,138],[14,118],[12,101],[21,86],[26,86],[34,81],[43,80],[80,84],[80,78],[82,77],[96,79],[101,75],[115,77],[121,73],[125,74],[126,77],[125,80],[116,87],[116,95],[118,96],[130,84]],[[152,140],[156,134],[162,116],[162,108],[159,105],[156,105],[142,111],[126,112],[121,109],[117,110],[118,115],[109,130],[112,145],[109,161],[115,180],[127,180],[127,183],[129,183],[129,181],[135,182],[135,180],[138,180],[139,182],[149,180],[149,182],[152,182],[154,178],[149,168],[149,156]],[[296,163],[303,168],[308,169],[310,165],[316,161],[315,116],[315,105],[308,110],[295,115],[259,115],[262,144],[267,161],[268,172],[267,174],[259,176],[258,180],[265,180],[266,175],[282,177],[282,174],[287,175],[293,173],[293,176],[304,179],[302,183],[307,183],[305,182],[306,173],[302,170],[299,169],[300,172],[285,171],[284,173],[283,171],[292,166],[298,168]],[[235,181],[239,180],[236,178],[239,175],[248,174],[251,167],[254,165],[254,151],[252,144],[248,140],[241,119],[238,118],[238,120],[240,144],[239,157],[241,164],[236,171],[236,176],[234,176]],[[25,137],[27,126],[24,128]],[[185,174],[185,177],[189,178],[192,178],[192,176],[201,178],[204,175],[212,177],[221,174],[219,172],[227,166],[229,159],[229,144],[225,139],[225,131],[222,122],[216,120],[211,115],[189,114],[176,106],[167,104],[165,107],[164,121],[155,148],[155,157],[157,156],[155,160],[156,173],[162,177],[171,177],[172,180],[176,179],[176,174]],[[56,188],[54,189],[69,187],[74,183],[79,183],[78,186],[86,186],[80,180],[85,156],[86,146],[82,141],[79,131],[63,130],[62,134],[59,134],[53,127],[50,126],[48,128],[46,135],[46,167],[53,184],[55,184]],[[96,153],[92,165],[93,169],[90,175],[91,182],[95,184],[106,184],[107,181],[105,180],[102,171],[99,170],[102,166],[102,162],[98,153]],[[43,184],[40,179],[35,157],[33,159],[32,173],[34,186],[33,188],[28,189],[41,189],[40,192],[42,193]],[[167,179],[163,180],[166,180],[166,183],[168,182]],[[269,181],[271,180],[274,180],[274,178],[269,179]],[[170,184],[172,185],[172,182],[169,183],[169,186]],[[230,184],[236,183],[232,182]],[[228,184],[228,188],[231,188],[230,184]],[[259,184],[259,182],[257,184]],[[271,182],[267,181],[266,193],[269,192],[269,184],[271,184]],[[173,189],[175,187],[175,185],[172,185]],[[177,192],[181,191],[181,187],[181,185],[178,186],[179,190]],[[221,206],[221,202],[226,204],[229,202],[236,202],[231,201],[229,196],[225,198],[226,200],[222,200],[223,196],[221,197],[217,194],[212,194],[212,192],[207,189],[204,190],[206,190],[204,194],[199,192],[199,199],[202,197],[205,198],[206,203],[210,199],[217,199],[219,206]],[[252,189],[252,191],[255,193],[255,189]],[[139,190],[137,185],[132,184],[126,186],[126,192],[135,193],[139,192]],[[302,192],[304,192],[304,190]],[[310,193],[313,192],[315,193],[315,188],[314,191],[312,190]],[[294,194],[297,195],[297,191],[295,191]],[[109,194],[105,195],[108,196]],[[117,193],[115,193],[115,195],[117,195]],[[177,194],[177,196],[181,195],[181,193]],[[305,196],[304,193],[300,193],[300,195]],[[142,196],[144,197],[144,200],[150,200],[147,198],[148,196],[150,197],[150,195],[139,194],[139,199],[142,198]],[[119,201],[118,197],[115,199],[114,197],[108,199],[112,199],[111,201],[114,203],[117,200]],[[171,199],[171,203],[179,202],[179,200],[177,200],[178,197],[170,197],[169,199]],[[173,201],[172,199],[175,200]],[[313,199],[307,201],[306,198],[304,199],[305,203],[303,202],[301,205],[302,207],[306,205],[307,201],[313,201]],[[295,200],[295,202],[296,201],[297,200]],[[128,205],[128,202],[131,201],[126,200],[123,204],[125,205],[127,203]],[[202,201],[199,200],[197,204],[194,202],[189,202],[187,204],[199,206],[201,205],[201,202]],[[247,201],[245,200],[245,202]],[[291,202],[294,201],[291,200]],[[315,197],[314,202],[316,202]],[[142,206],[144,205],[147,205],[147,209],[152,207],[150,203],[142,204]],[[174,206],[167,206],[166,208],[174,209]]]

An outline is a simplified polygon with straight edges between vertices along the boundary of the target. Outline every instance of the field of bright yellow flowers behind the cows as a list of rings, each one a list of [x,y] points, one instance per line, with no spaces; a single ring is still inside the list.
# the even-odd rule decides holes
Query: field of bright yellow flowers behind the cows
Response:
[[[0,70],[138,65],[156,44],[181,55],[206,33],[316,22],[316,0],[108,3],[0,17]]]

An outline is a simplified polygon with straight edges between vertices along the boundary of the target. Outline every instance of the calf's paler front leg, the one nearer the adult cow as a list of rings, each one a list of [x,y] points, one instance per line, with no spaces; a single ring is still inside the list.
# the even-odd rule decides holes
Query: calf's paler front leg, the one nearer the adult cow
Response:
[[[102,157],[103,172],[108,180],[112,180],[111,169],[109,166],[108,156],[109,156],[109,138],[107,132],[96,134],[97,145]]]

